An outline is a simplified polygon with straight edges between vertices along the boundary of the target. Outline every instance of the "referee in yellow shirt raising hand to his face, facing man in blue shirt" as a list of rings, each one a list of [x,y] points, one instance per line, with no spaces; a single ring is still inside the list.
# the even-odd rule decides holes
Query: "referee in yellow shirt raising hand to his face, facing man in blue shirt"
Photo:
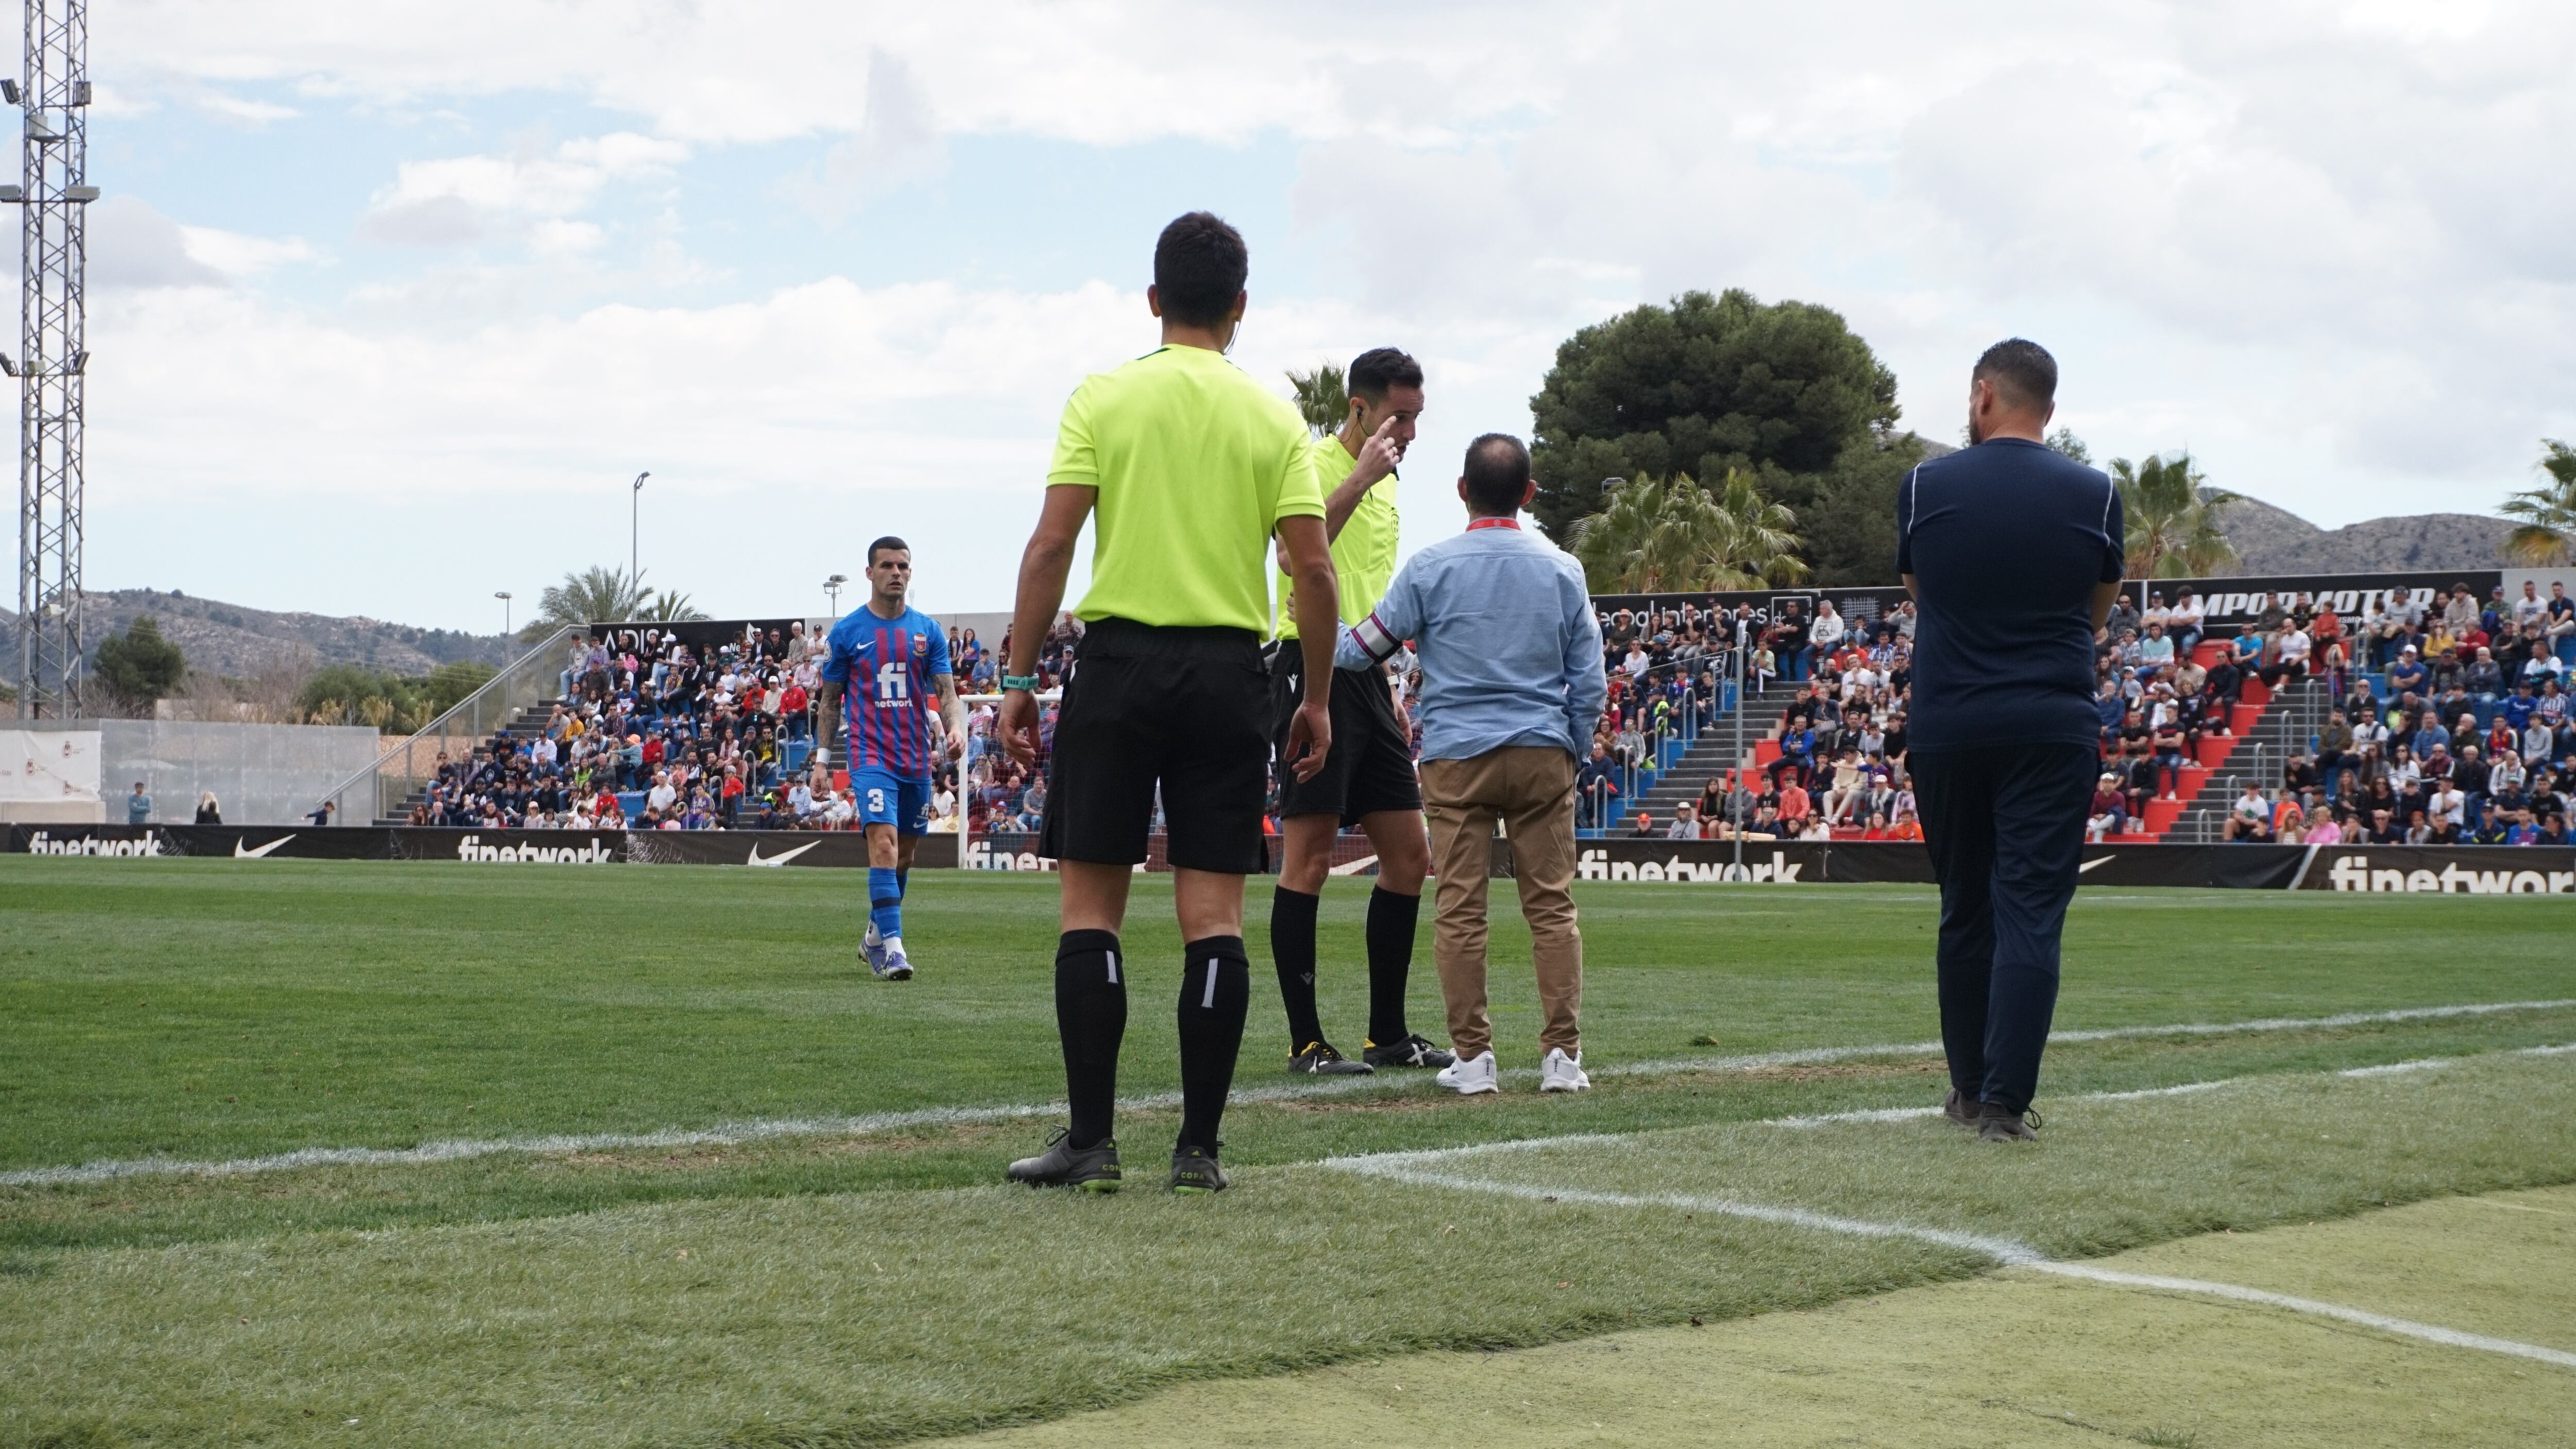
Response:
[[[1422,417],[1422,363],[1396,347],[1370,347],[1342,373],[1350,414],[1314,445],[1324,494],[1324,533],[1342,595],[1342,623],[1358,625],[1396,577],[1396,463]],[[1280,579],[1280,643],[1270,661],[1273,731],[1283,746],[1306,703],[1306,656],[1298,649],[1296,579]],[[1381,1066],[1443,1068],[1453,1058],[1404,1024],[1404,983],[1414,968],[1414,921],[1422,914],[1422,782],[1414,739],[1386,690],[1386,669],[1342,669],[1332,682],[1332,759],[1314,780],[1280,770],[1280,883],[1270,898],[1270,963],[1288,1006],[1288,1071],[1309,1076],[1365,1073]],[[1332,872],[1332,842],[1350,826],[1368,831],[1378,883],[1368,893],[1368,1042],[1350,1060],[1324,1040],[1314,1001],[1314,919]]]

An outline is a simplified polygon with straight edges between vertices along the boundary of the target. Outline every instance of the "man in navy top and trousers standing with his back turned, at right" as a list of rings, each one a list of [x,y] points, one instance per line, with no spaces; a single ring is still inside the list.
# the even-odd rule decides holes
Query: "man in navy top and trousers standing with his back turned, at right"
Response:
[[[2038,1140],[2030,1099],[2058,1004],[2058,937],[2102,772],[2094,631],[2120,595],[2120,492],[2040,438],[2058,363],[1996,342],[1968,443],[1896,492],[1896,569],[1919,605],[1911,754],[1940,878],[1940,1029],[1953,1122]]]

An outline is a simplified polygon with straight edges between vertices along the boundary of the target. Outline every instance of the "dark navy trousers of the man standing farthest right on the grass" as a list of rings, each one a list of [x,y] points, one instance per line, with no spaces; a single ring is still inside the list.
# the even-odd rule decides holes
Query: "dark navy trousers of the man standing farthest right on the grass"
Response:
[[[1940,1037],[1950,1086],[2014,1112],[2040,1089],[2058,937],[2102,752],[1996,744],[1917,752],[1914,798],[1940,880]]]

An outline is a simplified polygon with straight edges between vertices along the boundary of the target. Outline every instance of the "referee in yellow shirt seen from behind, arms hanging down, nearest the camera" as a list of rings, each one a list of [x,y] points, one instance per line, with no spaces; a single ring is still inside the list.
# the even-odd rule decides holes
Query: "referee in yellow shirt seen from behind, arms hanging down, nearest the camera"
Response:
[[[1306,425],[1226,360],[1244,319],[1244,237],[1206,211],[1154,242],[1146,304],[1162,347],[1084,378],[1064,404],[1046,507],[1020,556],[999,734],[1038,757],[1038,646],[1064,602],[1082,520],[1097,512],[1092,589],[1056,715],[1038,852],[1061,862],[1056,1032],[1072,1122],[1012,1181],[1118,1192],[1118,950],[1131,870],[1162,793],[1180,914],[1180,1143],[1172,1192],[1218,1192],[1216,1127],[1252,1001],[1244,875],[1262,870],[1270,770],[1270,538],[1288,551],[1314,687],[1283,754],[1311,780],[1332,746],[1337,631],[1324,492]]]

